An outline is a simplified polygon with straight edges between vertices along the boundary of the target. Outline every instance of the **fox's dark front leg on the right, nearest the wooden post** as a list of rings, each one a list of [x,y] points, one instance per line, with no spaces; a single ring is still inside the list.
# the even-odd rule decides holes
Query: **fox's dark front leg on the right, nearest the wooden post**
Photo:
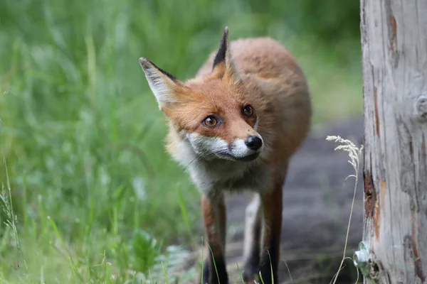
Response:
[[[284,182],[283,175],[273,175],[270,192],[261,196],[263,236],[260,251],[260,273],[265,284],[273,283],[273,281],[278,283]]]

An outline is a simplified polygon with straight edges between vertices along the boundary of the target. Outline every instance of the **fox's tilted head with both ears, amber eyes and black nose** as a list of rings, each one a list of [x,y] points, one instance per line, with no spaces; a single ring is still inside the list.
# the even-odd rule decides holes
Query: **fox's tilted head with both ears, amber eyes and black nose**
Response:
[[[199,158],[251,161],[263,151],[258,115],[251,104],[223,31],[211,74],[181,82],[147,58],[145,77],[172,126]]]

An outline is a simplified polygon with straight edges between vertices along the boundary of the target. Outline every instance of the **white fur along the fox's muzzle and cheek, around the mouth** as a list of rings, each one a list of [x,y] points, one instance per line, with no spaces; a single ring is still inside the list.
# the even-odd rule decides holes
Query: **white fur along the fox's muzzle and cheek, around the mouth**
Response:
[[[196,133],[187,133],[186,138],[194,152],[206,160],[214,158],[235,160],[263,151],[263,146],[258,151],[249,149],[245,144],[245,140],[241,138],[234,140],[230,145],[221,138],[200,136]]]

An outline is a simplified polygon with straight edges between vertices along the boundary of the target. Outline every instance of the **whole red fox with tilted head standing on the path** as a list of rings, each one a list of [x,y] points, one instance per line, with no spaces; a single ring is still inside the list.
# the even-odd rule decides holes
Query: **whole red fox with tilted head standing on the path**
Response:
[[[225,192],[254,192],[246,209],[243,279],[278,283],[282,190],[293,153],[311,125],[305,75],[272,38],[228,41],[183,82],[139,58],[169,121],[167,151],[201,192],[204,283],[228,283]],[[210,246],[210,249],[209,249]],[[212,251],[212,253],[211,253]]]

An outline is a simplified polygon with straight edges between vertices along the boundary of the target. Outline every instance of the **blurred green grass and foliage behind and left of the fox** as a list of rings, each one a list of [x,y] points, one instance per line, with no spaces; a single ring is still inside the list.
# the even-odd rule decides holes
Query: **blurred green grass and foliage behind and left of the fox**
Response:
[[[359,1],[0,1],[1,283],[156,278],[199,244],[138,58],[184,80],[225,26],[295,55],[315,126],[362,114]]]

